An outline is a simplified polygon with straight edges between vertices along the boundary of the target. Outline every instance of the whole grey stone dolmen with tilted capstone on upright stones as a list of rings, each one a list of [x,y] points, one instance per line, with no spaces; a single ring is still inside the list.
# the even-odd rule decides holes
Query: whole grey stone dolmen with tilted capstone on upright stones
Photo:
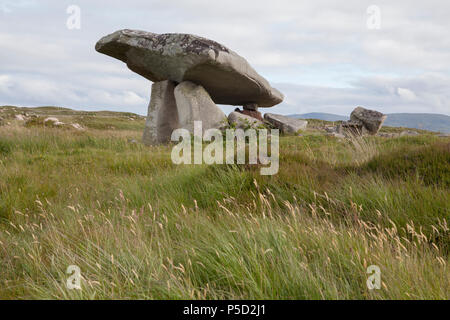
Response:
[[[95,49],[153,82],[146,145],[169,142],[178,128],[192,133],[194,121],[202,121],[203,130],[222,127],[227,117],[217,104],[243,106],[238,117],[261,118],[259,107],[284,98],[243,57],[199,36],[126,29],[103,37]]]

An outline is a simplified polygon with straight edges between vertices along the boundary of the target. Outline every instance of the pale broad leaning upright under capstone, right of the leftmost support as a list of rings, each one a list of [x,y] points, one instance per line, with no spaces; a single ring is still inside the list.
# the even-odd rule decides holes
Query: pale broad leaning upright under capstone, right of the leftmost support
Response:
[[[223,127],[227,116],[212,101],[208,92],[190,81],[184,81],[175,88],[179,127],[194,133],[194,121],[202,122],[203,132]]]

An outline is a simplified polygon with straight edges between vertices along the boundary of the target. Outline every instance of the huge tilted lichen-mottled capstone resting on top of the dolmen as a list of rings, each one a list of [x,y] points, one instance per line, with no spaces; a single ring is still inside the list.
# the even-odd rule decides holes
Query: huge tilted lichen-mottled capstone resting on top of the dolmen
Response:
[[[100,39],[95,49],[150,81],[199,84],[217,104],[272,107],[283,101],[283,95],[243,57],[206,38],[119,30]]]

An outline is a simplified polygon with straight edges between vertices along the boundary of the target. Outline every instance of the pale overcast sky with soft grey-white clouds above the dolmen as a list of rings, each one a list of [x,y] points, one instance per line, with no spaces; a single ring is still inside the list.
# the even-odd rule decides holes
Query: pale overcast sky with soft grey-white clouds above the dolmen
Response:
[[[125,28],[237,52],[285,95],[262,111],[450,115],[447,0],[0,0],[0,105],[145,115],[151,82],[94,49]]]

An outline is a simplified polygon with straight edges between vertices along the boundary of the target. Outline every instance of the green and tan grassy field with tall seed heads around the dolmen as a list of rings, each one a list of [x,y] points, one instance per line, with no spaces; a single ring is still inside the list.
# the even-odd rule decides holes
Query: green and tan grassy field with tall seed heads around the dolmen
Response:
[[[87,130],[0,127],[1,299],[450,299],[449,138],[312,130],[261,176],[176,166],[129,142],[142,117],[63,113]]]

